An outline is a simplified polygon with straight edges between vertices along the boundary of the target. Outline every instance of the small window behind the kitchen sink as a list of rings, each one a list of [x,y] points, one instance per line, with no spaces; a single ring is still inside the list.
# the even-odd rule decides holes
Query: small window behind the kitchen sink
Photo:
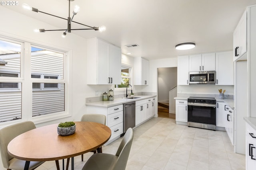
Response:
[[[122,64],[121,67],[121,82],[120,84],[115,85],[115,90],[126,90],[126,87],[128,84],[132,84],[131,79],[132,79],[132,73],[131,73],[132,67]],[[129,86],[128,89],[130,90],[131,87]]]

